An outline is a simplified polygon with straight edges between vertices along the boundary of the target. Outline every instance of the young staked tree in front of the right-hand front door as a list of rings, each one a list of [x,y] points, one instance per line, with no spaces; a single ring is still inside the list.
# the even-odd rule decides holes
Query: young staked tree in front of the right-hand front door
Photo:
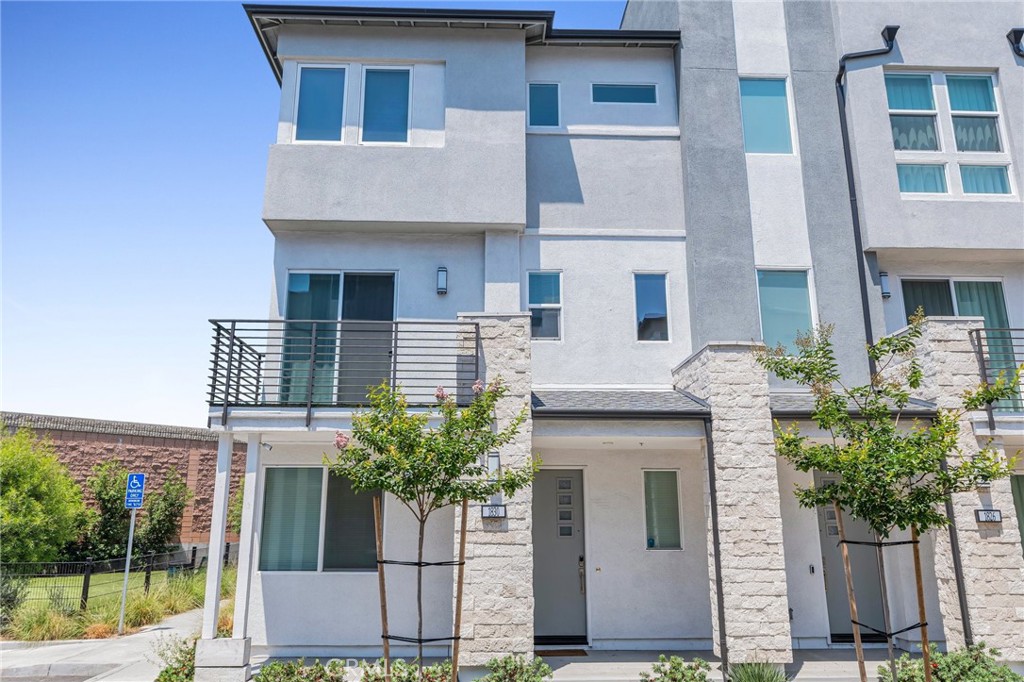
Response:
[[[913,357],[923,333],[922,314],[910,321],[907,331],[882,339],[867,347],[877,371],[871,383],[847,387],[841,377],[831,344],[830,326],[820,327],[798,340],[797,356],[782,348],[763,350],[758,361],[781,379],[808,387],[815,397],[813,421],[828,434],[824,441],[803,435],[797,425],[776,424],[778,455],[802,472],[821,471],[837,475],[834,484],[798,487],[802,507],[833,506],[840,532],[842,513],[865,521],[880,541],[896,529],[909,528],[913,542],[918,606],[925,617],[921,573],[920,534],[949,524],[940,506],[954,493],[973,491],[979,484],[1010,475],[1013,462],[996,451],[983,447],[965,453],[959,444],[959,422],[965,413],[983,409],[1014,395],[1021,370],[1012,378],[1000,376],[993,385],[980,384],[964,393],[963,408],[939,410],[929,422],[902,419],[910,393],[921,387],[921,365]],[[1021,368],[1024,370],[1024,367]],[[849,558],[843,545],[844,568],[851,617],[856,620]],[[927,625],[921,627],[925,675],[931,681]],[[866,682],[859,629],[854,627],[860,677]]]

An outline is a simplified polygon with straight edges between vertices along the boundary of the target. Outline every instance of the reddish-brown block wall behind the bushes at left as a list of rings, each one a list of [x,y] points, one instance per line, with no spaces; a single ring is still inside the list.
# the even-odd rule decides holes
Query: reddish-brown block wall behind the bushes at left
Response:
[[[87,504],[91,503],[92,496],[85,481],[92,468],[105,460],[119,460],[132,471],[144,472],[146,489],[151,494],[163,485],[171,469],[176,469],[193,492],[193,498],[181,514],[179,540],[183,545],[209,542],[213,477],[217,468],[216,437],[213,440],[195,440],[49,428],[33,430],[38,436],[49,437],[53,442],[57,459],[81,485]],[[231,461],[232,493],[245,467],[246,445],[236,443]],[[238,536],[228,532],[227,542],[238,542]]]

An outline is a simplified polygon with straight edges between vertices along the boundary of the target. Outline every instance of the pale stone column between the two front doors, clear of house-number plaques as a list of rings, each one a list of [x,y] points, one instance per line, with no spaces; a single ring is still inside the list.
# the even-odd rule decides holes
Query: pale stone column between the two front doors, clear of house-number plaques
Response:
[[[730,663],[793,659],[782,513],[768,375],[753,343],[710,343],[673,371],[712,409],[725,638]],[[707,473],[706,473],[707,475]],[[710,510],[711,500],[708,500]],[[712,526],[709,573],[715,652],[721,654]]]

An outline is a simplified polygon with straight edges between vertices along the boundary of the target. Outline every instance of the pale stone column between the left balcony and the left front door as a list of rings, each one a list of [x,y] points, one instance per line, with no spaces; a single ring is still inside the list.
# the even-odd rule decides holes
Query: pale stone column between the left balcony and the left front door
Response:
[[[484,380],[501,377],[510,389],[497,410],[499,424],[506,424],[530,402],[529,315],[467,313],[459,318],[480,326]],[[515,441],[500,453],[502,466],[525,464],[531,440],[527,418]],[[534,651],[532,501],[531,488],[505,500],[505,519],[483,520],[478,505],[469,507],[460,666],[480,667],[495,656]],[[461,516],[457,507],[456,553]]]

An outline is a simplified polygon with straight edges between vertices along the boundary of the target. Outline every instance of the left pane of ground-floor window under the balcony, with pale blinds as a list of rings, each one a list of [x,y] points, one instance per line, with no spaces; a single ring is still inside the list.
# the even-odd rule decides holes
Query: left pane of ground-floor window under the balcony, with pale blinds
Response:
[[[316,570],[321,467],[271,467],[263,491],[260,570]]]

